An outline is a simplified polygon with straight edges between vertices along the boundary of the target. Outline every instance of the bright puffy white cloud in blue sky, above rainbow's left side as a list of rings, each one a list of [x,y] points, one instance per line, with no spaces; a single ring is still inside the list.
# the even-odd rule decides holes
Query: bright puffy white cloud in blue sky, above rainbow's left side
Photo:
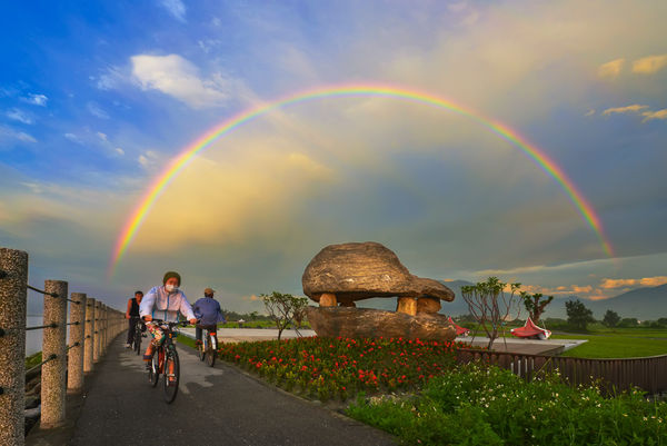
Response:
[[[198,68],[178,54],[133,56],[132,75],[145,90],[158,90],[192,108],[216,107],[229,99],[231,80],[216,73],[199,77]]]

